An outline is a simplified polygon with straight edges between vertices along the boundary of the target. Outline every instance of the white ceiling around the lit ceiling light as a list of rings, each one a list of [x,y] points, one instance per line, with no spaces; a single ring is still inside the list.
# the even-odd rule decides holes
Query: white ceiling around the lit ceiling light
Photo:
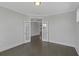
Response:
[[[29,16],[48,16],[76,10],[79,2],[42,2],[35,6],[33,2],[0,2],[1,7]]]

